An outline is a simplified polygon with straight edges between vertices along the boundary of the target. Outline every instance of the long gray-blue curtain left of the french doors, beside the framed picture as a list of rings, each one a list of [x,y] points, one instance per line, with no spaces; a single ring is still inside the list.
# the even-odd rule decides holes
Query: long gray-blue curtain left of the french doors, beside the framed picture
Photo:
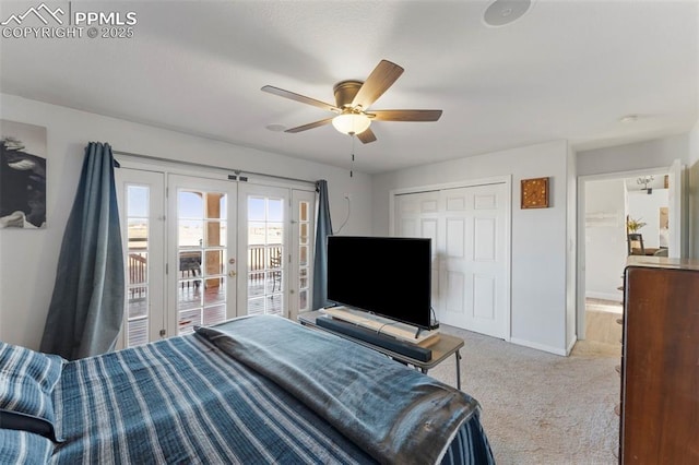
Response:
[[[114,349],[121,327],[125,273],[114,166],[109,144],[85,147],[40,347],[69,360]]]

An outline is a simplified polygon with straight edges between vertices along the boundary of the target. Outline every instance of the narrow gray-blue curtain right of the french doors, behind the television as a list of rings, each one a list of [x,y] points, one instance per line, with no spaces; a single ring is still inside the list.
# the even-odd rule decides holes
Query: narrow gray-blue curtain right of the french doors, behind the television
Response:
[[[318,218],[316,220],[316,254],[313,259],[313,310],[328,305],[328,236],[332,236],[328,181],[316,182],[318,191]]]

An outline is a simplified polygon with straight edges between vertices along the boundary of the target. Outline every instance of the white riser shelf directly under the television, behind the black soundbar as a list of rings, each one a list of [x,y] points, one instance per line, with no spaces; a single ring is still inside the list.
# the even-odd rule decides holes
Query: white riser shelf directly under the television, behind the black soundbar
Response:
[[[389,335],[411,344],[420,344],[439,335],[438,331],[426,331],[422,327],[343,306],[330,307],[322,311],[336,320],[346,321],[367,330],[372,330],[378,334]]]

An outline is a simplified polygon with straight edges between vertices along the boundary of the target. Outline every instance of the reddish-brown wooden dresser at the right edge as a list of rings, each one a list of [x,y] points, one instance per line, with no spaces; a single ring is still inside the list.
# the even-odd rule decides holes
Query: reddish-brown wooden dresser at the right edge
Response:
[[[699,464],[699,261],[629,257],[621,464]]]

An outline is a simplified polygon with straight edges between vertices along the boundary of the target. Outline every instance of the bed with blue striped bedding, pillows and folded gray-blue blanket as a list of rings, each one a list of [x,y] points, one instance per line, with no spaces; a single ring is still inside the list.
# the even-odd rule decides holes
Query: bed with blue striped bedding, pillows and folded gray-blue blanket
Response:
[[[0,363],[0,462],[494,463],[475,400],[281,317]]]

